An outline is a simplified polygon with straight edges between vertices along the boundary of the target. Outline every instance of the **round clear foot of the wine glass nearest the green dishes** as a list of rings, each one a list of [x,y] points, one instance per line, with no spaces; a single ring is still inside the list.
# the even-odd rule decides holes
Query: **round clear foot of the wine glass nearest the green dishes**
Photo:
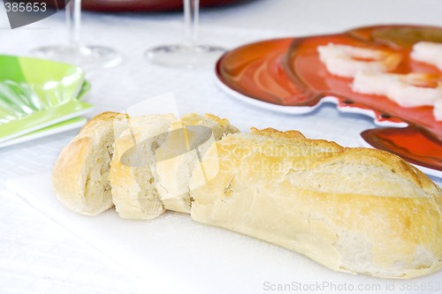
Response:
[[[109,68],[121,62],[121,56],[114,49],[101,46],[48,46],[33,49],[36,57],[76,64],[85,69]]]

